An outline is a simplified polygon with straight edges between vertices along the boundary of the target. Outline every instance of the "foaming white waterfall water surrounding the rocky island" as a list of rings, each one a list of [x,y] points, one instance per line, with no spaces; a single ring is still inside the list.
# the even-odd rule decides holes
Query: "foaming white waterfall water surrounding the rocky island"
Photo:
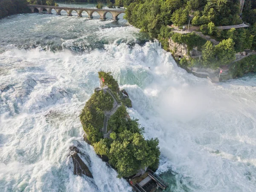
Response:
[[[92,34],[83,37],[84,31],[75,31],[77,37],[61,40],[61,46],[58,37],[48,44],[44,37],[49,34],[41,33],[37,48],[24,46],[27,41],[19,32],[11,31],[13,38],[6,40],[6,26],[14,26],[12,22],[29,25],[24,17],[35,17],[35,23],[49,20],[49,30],[57,36],[70,35],[64,27],[53,27],[57,21],[70,24],[78,19],[25,14],[0,22],[6,33],[0,34],[1,192],[131,190],[81,137],[79,113],[99,85],[99,70],[111,71],[128,91],[133,105],[128,111],[140,119],[145,137],[159,138],[158,172],[169,183],[169,191],[255,191],[255,75],[220,84],[197,78],[177,67],[158,42],[135,44],[141,42],[139,31],[125,22],[85,20],[95,31],[85,27]],[[39,33],[30,33],[26,38],[33,44]],[[95,37],[104,40],[102,48],[93,47]],[[20,42],[15,44],[15,38]],[[78,47],[81,51],[74,52]],[[69,167],[69,146],[78,143],[90,159],[93,180],[73,175]]]

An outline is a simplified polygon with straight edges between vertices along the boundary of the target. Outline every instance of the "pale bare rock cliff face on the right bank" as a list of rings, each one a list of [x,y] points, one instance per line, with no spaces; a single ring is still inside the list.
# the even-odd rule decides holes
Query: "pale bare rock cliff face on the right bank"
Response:
[[[202,52],[198,51],[198,47],[193,47],[191,51],[189,51],[188,46],[186,44],[178,44],[175,43],[172,38],[169,38],[169,49],[174,53],[175,57],[199,57],[202,55]]]

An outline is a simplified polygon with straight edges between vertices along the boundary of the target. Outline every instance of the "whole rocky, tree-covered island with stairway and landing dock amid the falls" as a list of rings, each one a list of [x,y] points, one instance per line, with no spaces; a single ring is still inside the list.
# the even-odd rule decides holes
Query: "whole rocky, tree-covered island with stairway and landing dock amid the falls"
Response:
[[[84,140],[135,191],[166,189],[168,185],[151,171],[159,164],[159,140],[145,140],[144,128],[126,111],[126,107],[131,107],[128,93],[119,89],[111,73],[101,71],[99,79],[101,86],[94,90],[80,114]]]

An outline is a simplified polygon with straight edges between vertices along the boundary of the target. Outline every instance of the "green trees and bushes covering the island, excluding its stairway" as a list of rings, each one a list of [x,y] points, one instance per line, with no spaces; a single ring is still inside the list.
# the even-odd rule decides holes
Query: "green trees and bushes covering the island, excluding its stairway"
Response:
[[[104,78],[114,93],[120,92],[111,73],[101,71],[99,78]],[[158,139],[145,140],[144,128],[140,127],[138,119],[129,118],[124,105],[121,105],[108,120],[110,138],[103,138],[104,112],[111,110],[112,107],[112,96],[100,90],[93,93],[80,114],[87,140],[93,145],[96,153],[108,157],[109,163],[116,168],[119,177],[129,177],[147,167],[157,169],[160,157]]]

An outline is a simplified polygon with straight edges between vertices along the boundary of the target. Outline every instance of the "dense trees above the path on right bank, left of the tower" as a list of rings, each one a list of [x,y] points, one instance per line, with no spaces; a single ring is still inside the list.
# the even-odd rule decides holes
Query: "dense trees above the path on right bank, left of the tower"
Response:
[[[181,26],[192,18],[195,26],[241,23],[239,0],[124,0],[124,6],[128,7],[125,17],[129,23],[153,38],[160,34],[162,26]]]

